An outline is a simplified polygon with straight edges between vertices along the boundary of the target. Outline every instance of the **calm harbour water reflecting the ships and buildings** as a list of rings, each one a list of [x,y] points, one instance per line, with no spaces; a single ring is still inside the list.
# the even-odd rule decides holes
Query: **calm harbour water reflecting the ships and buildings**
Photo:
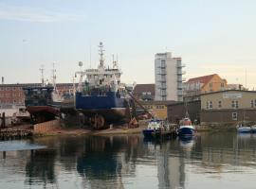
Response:
[[[0,188],[256,188],[255,145],[256,135],[236,133],[0,142]]]

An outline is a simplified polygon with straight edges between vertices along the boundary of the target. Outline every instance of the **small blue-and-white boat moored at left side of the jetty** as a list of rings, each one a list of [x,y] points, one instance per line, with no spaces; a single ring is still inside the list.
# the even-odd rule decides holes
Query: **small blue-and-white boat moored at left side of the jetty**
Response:
[[[143,129],[143,135],[146,138],[152,138],[160,135],[160,129],[163,127],[162,120],[153,118],[149,121],[147,129]]]

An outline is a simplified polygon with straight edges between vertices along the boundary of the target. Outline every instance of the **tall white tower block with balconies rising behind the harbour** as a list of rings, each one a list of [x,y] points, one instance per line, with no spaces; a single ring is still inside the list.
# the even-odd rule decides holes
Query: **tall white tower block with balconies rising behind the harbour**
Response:
[[[184,66],[171,52],[155,54],[155,100],[183,101]]]

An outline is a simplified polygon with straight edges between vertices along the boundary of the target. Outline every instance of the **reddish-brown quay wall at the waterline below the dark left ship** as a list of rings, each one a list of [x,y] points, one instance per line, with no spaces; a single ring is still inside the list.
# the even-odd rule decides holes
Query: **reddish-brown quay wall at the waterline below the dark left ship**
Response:
[[[59,129],[61,126],[60,120],[47,121],[44,123],[34,125],[35,133],[46,133],[54,129]]]

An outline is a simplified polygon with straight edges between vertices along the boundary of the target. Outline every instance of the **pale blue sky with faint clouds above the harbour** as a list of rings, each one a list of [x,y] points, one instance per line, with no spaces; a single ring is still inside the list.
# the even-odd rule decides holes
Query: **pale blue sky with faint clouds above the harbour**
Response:
[[[0,0],[0,77],[57,82],[118,57],[121,80],[154,83],[155,53],[172,52],[186,78],[219,74],[256,89],[255,0]]]

